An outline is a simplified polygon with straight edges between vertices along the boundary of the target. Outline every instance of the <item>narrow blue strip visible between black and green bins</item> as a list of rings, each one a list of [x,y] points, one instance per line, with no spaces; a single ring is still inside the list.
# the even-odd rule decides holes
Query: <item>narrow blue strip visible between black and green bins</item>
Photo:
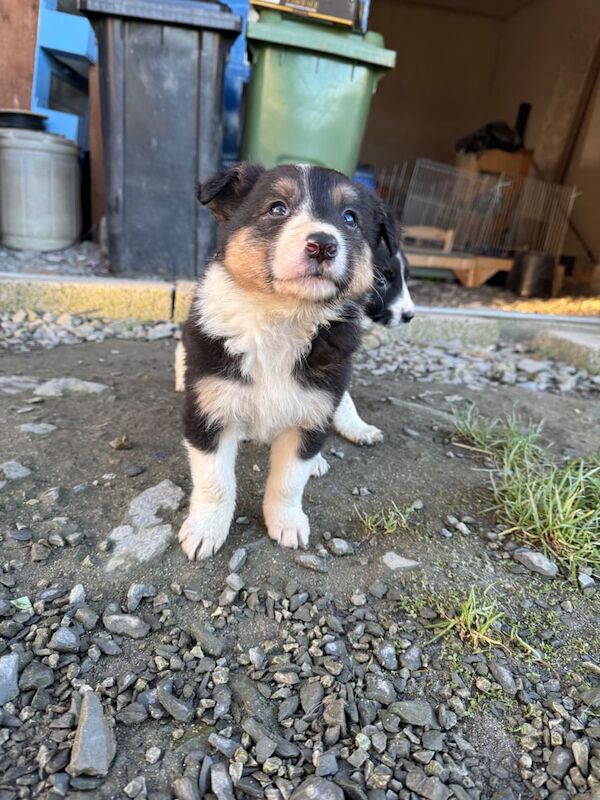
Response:
[[[249,0],[228,0],[234,14],[242,18],[242,32],[231,45],[225,67],[225,96],[223,111],[223,165],[228,167],[240,160],[244,86],[250,80],[251,67],[246,49],[246,24]]]

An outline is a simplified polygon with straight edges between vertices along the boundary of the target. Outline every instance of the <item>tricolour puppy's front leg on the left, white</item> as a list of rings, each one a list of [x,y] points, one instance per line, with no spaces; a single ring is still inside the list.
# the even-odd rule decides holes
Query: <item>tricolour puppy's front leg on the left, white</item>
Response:
[[[190,513],[179,531],[190,561],[209,558],[227,538],[235,510],[235,458],[238,434],[225,429],[215,447],[201,450],[185,441],[192,471]]]

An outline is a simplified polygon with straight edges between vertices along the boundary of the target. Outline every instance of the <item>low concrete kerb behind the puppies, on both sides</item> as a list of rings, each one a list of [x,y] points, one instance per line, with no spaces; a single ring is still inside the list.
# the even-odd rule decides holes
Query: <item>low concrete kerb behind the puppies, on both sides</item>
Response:
[[[111,320],[184,322],[193,281],[87,278],[0,274],[0,312],[19,309],[81,314]],[[435,344],[457,342],[489,347],[500,340],[532,343],[548,356],[600,372],[600,321],[543,315],[508,314],[493,309],[417,307],[410,325],[374,326],[364,336],[367,348],[392,340]],[[565,344],[566,342],[566,344]]]

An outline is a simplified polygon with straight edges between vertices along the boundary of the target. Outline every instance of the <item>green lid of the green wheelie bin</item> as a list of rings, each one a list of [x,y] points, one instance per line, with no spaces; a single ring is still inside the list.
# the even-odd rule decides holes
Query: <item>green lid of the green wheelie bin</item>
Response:
[[[284,17],[277,11],[263,11],[258,22],[248,22],[246,38],[250,42],[270,42],[301,50],[314,50],[384,69],[396,66],[396,53],[385,49],[380,33],[369,31],[362,36],[360,33]]]

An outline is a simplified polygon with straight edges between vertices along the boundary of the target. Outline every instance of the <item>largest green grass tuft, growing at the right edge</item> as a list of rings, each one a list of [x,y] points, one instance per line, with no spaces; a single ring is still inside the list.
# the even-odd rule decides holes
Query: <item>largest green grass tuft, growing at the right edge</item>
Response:
[[[523,425],[515,415],[490,421],[470,410],[455,430],[497,465],[492,489],[505,534],[543,550],[572,579],[584,565],[600,573],[598,455],[556,463],[540,444],[541,425]]]

